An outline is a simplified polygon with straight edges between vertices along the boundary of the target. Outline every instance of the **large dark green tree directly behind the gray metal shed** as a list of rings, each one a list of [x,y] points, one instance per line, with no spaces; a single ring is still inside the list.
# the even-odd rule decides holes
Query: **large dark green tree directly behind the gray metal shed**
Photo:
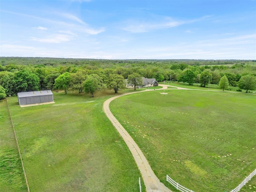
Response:
[[[39,78],[29,69],[25,68],[15,74],[16,92],[37,91],[39,89]]]

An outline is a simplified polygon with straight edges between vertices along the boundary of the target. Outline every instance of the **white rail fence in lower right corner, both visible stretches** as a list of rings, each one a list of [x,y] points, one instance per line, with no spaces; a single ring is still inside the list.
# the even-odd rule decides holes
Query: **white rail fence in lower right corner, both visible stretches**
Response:
[[[248,176],[246,177],[240,185],[238,185],[236,188],[234,188],[231,192],[238,192],[240,189],[249,181],[251,178],[256,175],[256,169]],[[170,178],[168,175],[166,175],[166,181],[168,181],[172,186],[174,186],[177,190],[180,190],[182,192],[193,192],[192,190],[187,189],[186,187],[178,184],[176,181],[174,181],[172,178]]]

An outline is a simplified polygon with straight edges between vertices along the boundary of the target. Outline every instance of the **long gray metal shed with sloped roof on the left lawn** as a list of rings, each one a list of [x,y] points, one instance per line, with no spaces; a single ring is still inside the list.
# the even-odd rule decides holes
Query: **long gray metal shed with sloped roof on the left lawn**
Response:
[[[53,94],[51,90],[20,92],[17,95],[20,105],[53,102]]]

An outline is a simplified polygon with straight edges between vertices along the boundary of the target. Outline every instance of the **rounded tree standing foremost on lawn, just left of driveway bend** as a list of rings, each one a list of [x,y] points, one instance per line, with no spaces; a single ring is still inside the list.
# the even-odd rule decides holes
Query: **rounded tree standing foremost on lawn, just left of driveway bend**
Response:
[[[102,91],[106,88],[106,85],[103,83],[103,80],[97,74],[90,74],[86,77],[86,80],[83,83],[84,92],[90,93],[91,97],[94,97],[94,92]]]

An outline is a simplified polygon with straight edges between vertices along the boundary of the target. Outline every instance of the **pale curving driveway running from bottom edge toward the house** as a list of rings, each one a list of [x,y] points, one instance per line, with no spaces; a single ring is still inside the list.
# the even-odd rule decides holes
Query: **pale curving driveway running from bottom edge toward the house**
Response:
[[[164,86],[164,85],[160,85],[160,86]],[[164,88],[167,88],[167,86],[164,86],[162,89]],[[145,156],[143,155],[138,145],[134,142],[132,137],[128,134],[128,132],[124,129],[124,127],[120,124],[120,122],[116,120],[116,118],[110,112],[110,109],[109,109],[110,102],[118,97],[128,95],[128,94],[135,94],[135,93],[148,92],[148,91],[154,91],[154,90],[145,90],[140,92],[132,92],[132,93],[114,96],[104,102],[103,110],[106,116],[115,126],[116,130],[124,139],[124,142],[130,149],[130,151],[132,152],[132,156],[134,157],[134,160],[138,165],[138,168],[140,169],[140,172],[142,174],[144,184],[146,186],[146,191],[147,192],[172,192],[170,189],[164,186],[164,184],[161,183],[160,180],[156,177],[156,175],[154,174],[153,170],[151,169],[150,165],[148,164],[148,161],[146,160]]]

